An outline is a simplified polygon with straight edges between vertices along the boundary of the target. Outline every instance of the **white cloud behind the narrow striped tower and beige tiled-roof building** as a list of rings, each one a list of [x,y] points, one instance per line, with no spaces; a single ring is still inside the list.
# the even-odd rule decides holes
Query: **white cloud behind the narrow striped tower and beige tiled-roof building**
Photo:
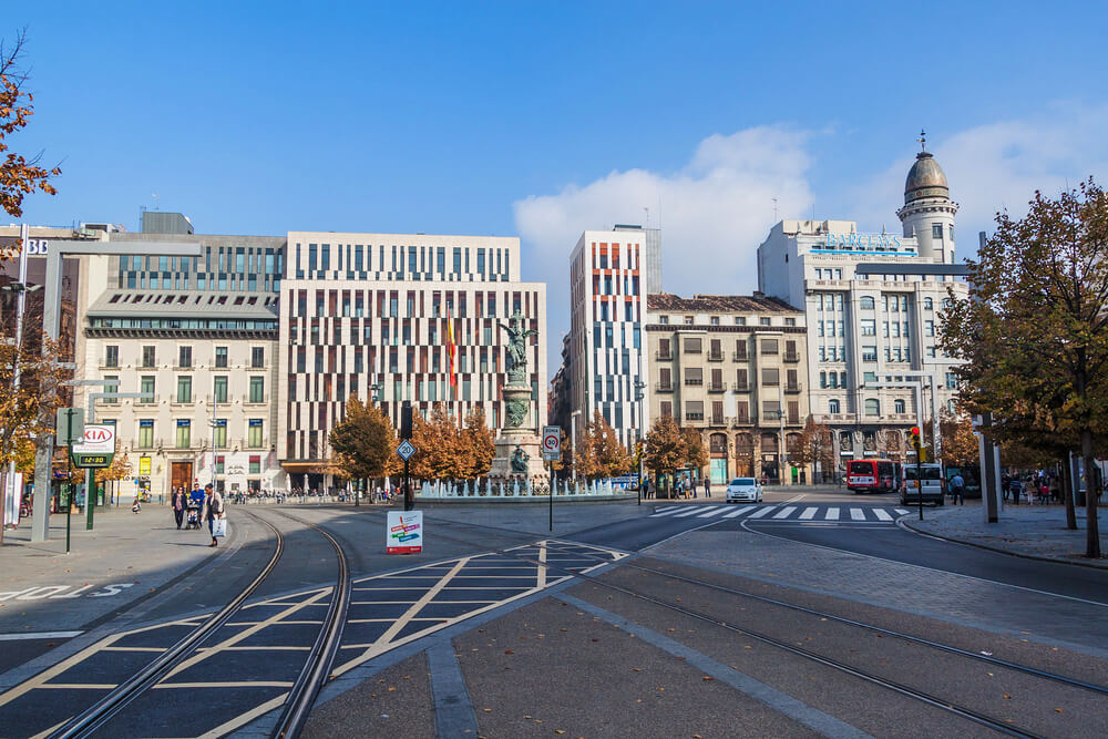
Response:
[[[758,126],[697,146],[679,172],[612,172],[556,195],[514,204],[525,277],[545,280],[551,371],[561,362],[561,335],[570,324],[570,253],[581,233],[617,223],[658,225],[663,285],[669,292],[741,294],[757,289],[758,245],[773,224],[773,198],[783,217],[812,202],[806,179],[808,134]]]

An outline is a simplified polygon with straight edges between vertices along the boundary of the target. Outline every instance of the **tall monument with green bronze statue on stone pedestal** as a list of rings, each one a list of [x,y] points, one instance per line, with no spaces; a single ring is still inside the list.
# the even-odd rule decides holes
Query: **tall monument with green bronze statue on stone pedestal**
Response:
[[[542,449],[534,417],[531,413],[531,377],[527,372],[530,339],[538,331],[524,328],[523,314],[516,310],[507,324],[496,324],[507,333],[504,349],[511,360],[504,398],[504,428],[496,437],[496,455],[489,476],[546,480]]]

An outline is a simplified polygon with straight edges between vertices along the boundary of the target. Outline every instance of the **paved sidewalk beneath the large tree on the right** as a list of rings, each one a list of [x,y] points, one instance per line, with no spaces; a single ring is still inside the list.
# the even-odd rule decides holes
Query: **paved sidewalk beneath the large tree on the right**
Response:
[[[1108,553],[1108,516],[1099,510],[1100,551]],[[966,505],[924,510],[921,522],[915,513],[901,519],[905,526],[966,544],[1023,556],[1058,560],[1108,568],[1108,558],[1085,557],[1085,509],[1077,511],[1077,528],[1066,528],[1061,505],[1005,505],[997,523],[986,523],[981,501]]]

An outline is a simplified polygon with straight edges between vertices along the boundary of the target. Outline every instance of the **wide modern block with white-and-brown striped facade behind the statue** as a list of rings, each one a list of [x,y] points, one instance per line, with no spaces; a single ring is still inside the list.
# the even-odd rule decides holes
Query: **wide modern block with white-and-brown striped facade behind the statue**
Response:
[[[497,324],[515,311],[538,331],[531,425],[546,420],[546,285],[521,280],[519,238],[289,232],[280,306],[278,456],[294,486],[324,484],[327,437],[351,394],[378,401],[394,424],[410,400],[424,414],[445,402],[459,420],[481,406],[502,427],[509,359]]]

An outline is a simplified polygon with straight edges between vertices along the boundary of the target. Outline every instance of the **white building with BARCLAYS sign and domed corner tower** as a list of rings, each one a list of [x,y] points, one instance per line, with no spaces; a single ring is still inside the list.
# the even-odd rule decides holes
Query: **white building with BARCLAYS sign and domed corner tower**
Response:
[[[952,360],[936,342],[947,288],[967,292],[954,263],[957,207],[923,151],[897,211],[902,234],[782,220],[758,247],[760,289],[807,314],[811,412],[834,431],[841,462],[905,459],[905,430],[953,410]]]

